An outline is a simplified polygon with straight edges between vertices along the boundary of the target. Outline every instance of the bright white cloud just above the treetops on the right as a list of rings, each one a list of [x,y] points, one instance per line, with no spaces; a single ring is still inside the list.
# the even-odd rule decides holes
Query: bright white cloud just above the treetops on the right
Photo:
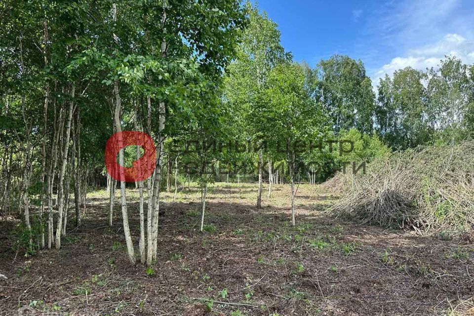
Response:
[[[466,64],[474,63],[474,41],[459,34],[447,34],[435,44],[409,49],[405,56],[393,58],[390,63],[380,67],[372,76],[375,86],[385,74],[391,76],[395,70],[412,67],[419,70],[436,67],[445,55],[454,55]]]

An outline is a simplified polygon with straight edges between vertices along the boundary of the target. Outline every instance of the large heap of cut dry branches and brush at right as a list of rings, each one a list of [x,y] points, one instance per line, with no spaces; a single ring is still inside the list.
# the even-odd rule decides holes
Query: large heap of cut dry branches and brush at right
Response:
[[[474,141],[394,153],[346,179],[336,217],[424,232],[474,227]]]

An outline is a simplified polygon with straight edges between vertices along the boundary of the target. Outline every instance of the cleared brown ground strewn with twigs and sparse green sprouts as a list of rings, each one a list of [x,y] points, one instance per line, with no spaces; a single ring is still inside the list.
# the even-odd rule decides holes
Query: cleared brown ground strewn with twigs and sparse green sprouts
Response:
[[[15,222],[3,221],[0,315],[474,315],[472,242],[335,221],[321,210],[337,197],[309,185],[293,228],[289,186],[265,192],[261,210],[256,189],[212,185],[204,233],[196,188],[163,194],[148,273],[127,262],[119,206],[107,226],[105,191],[88,195],[59,251],[17,253]],[[129,190],[136,248],[137,199]]]

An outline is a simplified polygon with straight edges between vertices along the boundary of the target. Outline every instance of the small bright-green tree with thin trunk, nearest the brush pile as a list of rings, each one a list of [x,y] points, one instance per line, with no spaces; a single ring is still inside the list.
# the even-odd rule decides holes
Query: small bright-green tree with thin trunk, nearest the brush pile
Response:
[[[301,155],[308,150],[302,144],[309,144],[321,138],[325,132],[326,118],[320,103],[312,99],[305,89],[306,74],[296,63],[282,63],[270,72],[268,89],[261,113],[264,120],[262,130],[266,131],[269,144],[284,146],[291,186],[291,224],[295,226],[295,198],[297,187],[295,177]]]

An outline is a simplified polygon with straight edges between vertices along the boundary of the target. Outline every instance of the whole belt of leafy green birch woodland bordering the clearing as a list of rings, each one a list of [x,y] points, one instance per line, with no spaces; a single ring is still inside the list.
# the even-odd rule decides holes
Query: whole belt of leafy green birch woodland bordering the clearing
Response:
[[[61,247],[70,209],[79,226],[98,177],[108,184],[113,224],[118,183],[105,171],[104,148],[118,131],[146,132],[156,144],[153,176],[129,184],[139,191],[139,257],[148,264],[156,258],[165,189],[176,195],[197,182],[202,229],[207,185],[223,174],[225,181],[258,181],[257,207],[264,181],[268,197],[272,184],[288,183],[295,225],[298,183],[324,181],[348,162],[391,150],[473,135],[474,68],[456,57],[427,72],[399,70],[381,79],[376,93],[362,62],[348,56],[314,69],[295,63],[276,23],[250,3],[2,5],[0,215],[21,219],[20,239],[30,252]],[[257,150],[210,150],[213,142],[251,142]],[[186,150],[187,143],[197,150]],[[324,146],[302,145],[310,143]],[[128,166],[141,155],[129,146],[118,161]],[[126,184],[119,186],[135,262]]]

